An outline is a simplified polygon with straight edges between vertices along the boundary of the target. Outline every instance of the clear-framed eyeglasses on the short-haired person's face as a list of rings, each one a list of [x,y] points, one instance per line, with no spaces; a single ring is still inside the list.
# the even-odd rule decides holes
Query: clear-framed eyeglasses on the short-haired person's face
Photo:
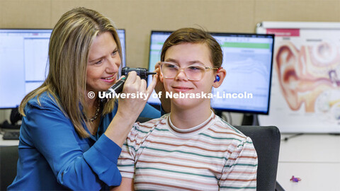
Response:
[[[160,64],[161,72],[165,79],[174,79],[177,74],[179,74],[179,72],[183,70],[188,80],[200,81],[203,78],[206,69],[218,69],[200,66],[198,64],[192,64],[190,66],[186,66],[185,68],[180,68],[179,66],[171,62],[161,62]]]

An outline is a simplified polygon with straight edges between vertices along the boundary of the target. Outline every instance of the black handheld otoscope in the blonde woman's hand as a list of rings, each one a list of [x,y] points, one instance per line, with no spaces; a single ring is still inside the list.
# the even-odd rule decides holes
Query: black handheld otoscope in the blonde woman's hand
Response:
[[[123,86],[124,83],[126,81],[126,79],[128,78],[128,74],[130,71],[136,71],[137,75],[140,76],[141,79],[147,79],[147,76],[150,74],[157,74],[156,72],[151,72],[151,71],[147,71],[147,69],[144,68],[129,68],[129,67],[124,67],[122,69],[121,74],[125,75],[122,79],[120,79],[119,81],[117,81],[115,84],[113,84],[113,86],[111,86],[111,88],[108,88],[108,91],[106,91],[106,93],[120,93],[123,91]],[[106,103],[107,99],[103,98],[101,100],[101,102]]]

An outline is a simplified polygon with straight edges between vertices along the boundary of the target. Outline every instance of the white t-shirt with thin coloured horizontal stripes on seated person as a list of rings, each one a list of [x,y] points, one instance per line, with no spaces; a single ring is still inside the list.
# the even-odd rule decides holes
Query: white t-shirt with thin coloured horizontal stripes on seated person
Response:
[[[256,190],[251,139],[213,113],[191,129],[169,114],[136,123],[122,149],[118,168],[135,190]]]

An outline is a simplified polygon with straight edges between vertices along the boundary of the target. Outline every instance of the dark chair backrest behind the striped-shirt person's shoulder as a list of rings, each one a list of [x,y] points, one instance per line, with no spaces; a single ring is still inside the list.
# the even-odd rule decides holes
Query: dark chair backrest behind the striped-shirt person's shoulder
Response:
[[[278,127],[234,126],[250,137],[256,149],[259,165],[257,168],[257,190],[275,190],[280,151]]]

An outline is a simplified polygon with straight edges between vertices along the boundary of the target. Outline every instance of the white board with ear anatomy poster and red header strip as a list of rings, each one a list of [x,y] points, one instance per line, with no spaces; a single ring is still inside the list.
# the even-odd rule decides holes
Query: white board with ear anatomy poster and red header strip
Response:
[[[280,132],[340,133],[340,23],[262,22],[275,34],[269,115]]]

